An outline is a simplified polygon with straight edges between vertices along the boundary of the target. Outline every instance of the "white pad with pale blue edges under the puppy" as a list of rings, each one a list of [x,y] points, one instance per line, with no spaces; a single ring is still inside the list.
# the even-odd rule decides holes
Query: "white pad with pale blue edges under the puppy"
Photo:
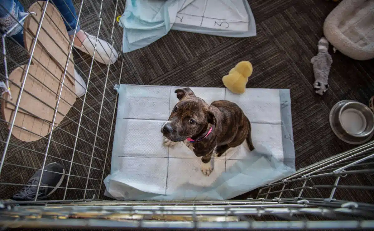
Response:
[[[287,89],[191,87],[208,104],[239,105],[252,125],[255,150],[243,142],[212,158],[204,176],[201,157],[183,143],[163,144],[160,128],[178,99],[175,86],[117,85],[119,93],[111,174],[105,195],[118,200],[225,200],[295,172],[291,99]]]

